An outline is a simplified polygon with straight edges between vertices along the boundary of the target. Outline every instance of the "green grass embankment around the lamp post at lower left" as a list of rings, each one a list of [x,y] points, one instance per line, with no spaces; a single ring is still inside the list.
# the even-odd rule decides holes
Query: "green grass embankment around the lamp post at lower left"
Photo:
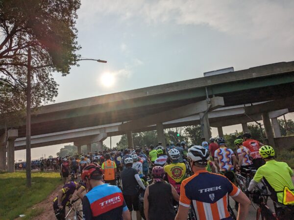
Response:
[[[0,220],[13,220],[21,214],[31,219],[42,209],[29,209],[47,198],[60,185],[58,173],[32,173],[32,187],[25,186],[25,172],[0,173]]]

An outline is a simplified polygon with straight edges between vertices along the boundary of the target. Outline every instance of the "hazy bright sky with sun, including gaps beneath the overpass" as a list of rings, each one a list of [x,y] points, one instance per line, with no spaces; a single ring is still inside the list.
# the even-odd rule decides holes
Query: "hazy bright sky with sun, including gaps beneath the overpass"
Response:
[[[293,0],[82,0],[79,53],[108,63],[81,61],[68,76],[56,74],[56,102],[292,61],[293,8]],[[32,149],[32,157],[62,146]]]

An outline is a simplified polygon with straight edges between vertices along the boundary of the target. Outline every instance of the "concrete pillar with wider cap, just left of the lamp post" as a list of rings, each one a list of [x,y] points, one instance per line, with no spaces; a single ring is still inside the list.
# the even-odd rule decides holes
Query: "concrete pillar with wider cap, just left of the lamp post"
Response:
[[[8,131],[7,140],[7,172],[13,173],[14,170],[14,141],[18,137],[18,130],[13,129]],[[30,163],[30,161],[27,161]]]

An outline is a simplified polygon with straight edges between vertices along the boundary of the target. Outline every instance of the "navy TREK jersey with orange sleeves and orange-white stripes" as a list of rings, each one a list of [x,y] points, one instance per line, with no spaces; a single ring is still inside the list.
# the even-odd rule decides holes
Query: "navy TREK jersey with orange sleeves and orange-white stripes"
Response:
[[[225,176],[201,170],[183,180],[179,204],[192,205],[200,220],[229,220],[228,195],[236,197],[239,193],[240,189]]]

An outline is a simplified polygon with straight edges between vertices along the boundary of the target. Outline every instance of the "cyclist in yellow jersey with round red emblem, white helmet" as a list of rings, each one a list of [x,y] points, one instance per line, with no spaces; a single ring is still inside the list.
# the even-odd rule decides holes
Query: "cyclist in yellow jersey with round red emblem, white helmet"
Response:
[[[180,153],[176,149],[169,151],[171,164],[164,166],[164,171],[170,184],[175,188],[176,192],[180,194],[180,187],[183,179],[186,177],[186,165],[179,163]]]

